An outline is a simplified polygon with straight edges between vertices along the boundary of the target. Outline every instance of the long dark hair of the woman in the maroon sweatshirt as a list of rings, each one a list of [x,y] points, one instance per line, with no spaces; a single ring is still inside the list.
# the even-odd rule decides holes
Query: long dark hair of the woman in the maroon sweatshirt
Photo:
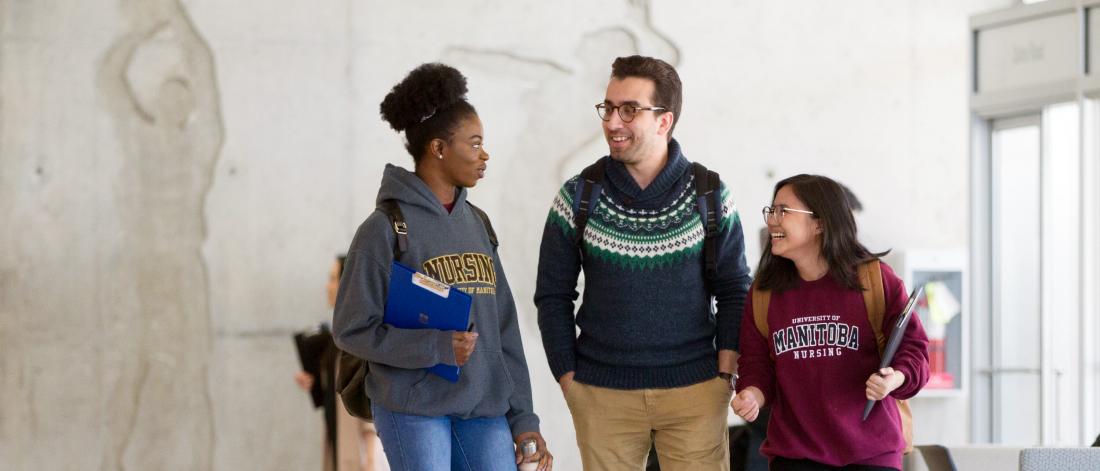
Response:
[[[851,215],[851,205],[845,194],[844,186],[829,177],[822,175],[795,175],[776,184],[771,199],[784,186],[790,186],[794,196],[814,211],[811,216],[822,227],[822,256],[828,263],[828,274],[840,286],[849,289],[860,289],[858,269],[868,262],[890,253],[875,253],[867,250],[856,237],[856,218]],[[771,238],[760,254],[757,265],[757,288],[783,292],[799,285],[799,270],[794,262],[771,254]]]

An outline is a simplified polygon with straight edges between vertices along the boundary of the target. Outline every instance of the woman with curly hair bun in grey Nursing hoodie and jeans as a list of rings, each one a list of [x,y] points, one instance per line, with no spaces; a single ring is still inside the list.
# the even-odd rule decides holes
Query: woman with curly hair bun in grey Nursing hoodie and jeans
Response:
[[[395,231],[386,213],[360,226],[337,296],[337,344],[365,359],[367,395],[394,470],[550,470],[539,434],[516,304],[501,259],[468,188],[485,176],[488,153],[466,79],[425,64],[382,101],[383,119],[404,132],[414,171],[386,165],[377,202],[396,201],[408,227],[398,262],[473,297],[472,331],[398,329],[383,322]],[[462,366],[458,383],[428,372]],[[520,443],[536,443],[524,454]]]

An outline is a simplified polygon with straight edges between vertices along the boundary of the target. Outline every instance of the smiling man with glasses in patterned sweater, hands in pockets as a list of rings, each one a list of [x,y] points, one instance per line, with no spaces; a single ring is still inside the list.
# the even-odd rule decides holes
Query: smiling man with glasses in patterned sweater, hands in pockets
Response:
[[[717,174],[672,139],[680,108],[672,66],[616,59],[596,105],[609,155],[565,182],[543,229],[539,329],[586,470],[640,470],[650,443],[666,471],[729,469],[745,238]]]

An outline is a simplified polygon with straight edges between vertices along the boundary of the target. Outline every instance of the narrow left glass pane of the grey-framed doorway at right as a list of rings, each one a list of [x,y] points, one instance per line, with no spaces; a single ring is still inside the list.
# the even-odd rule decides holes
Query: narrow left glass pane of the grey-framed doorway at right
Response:
[[[1042,413],[1040,117],[993,123],[992,441],[1037,445]]]

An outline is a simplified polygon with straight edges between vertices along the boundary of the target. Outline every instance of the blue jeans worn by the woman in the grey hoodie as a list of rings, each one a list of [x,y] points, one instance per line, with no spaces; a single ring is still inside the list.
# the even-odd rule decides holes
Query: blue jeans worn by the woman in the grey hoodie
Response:
[[[502,417],[425,417],[377,405],[374,427],[393,471],[516,471],[516,449]]]

